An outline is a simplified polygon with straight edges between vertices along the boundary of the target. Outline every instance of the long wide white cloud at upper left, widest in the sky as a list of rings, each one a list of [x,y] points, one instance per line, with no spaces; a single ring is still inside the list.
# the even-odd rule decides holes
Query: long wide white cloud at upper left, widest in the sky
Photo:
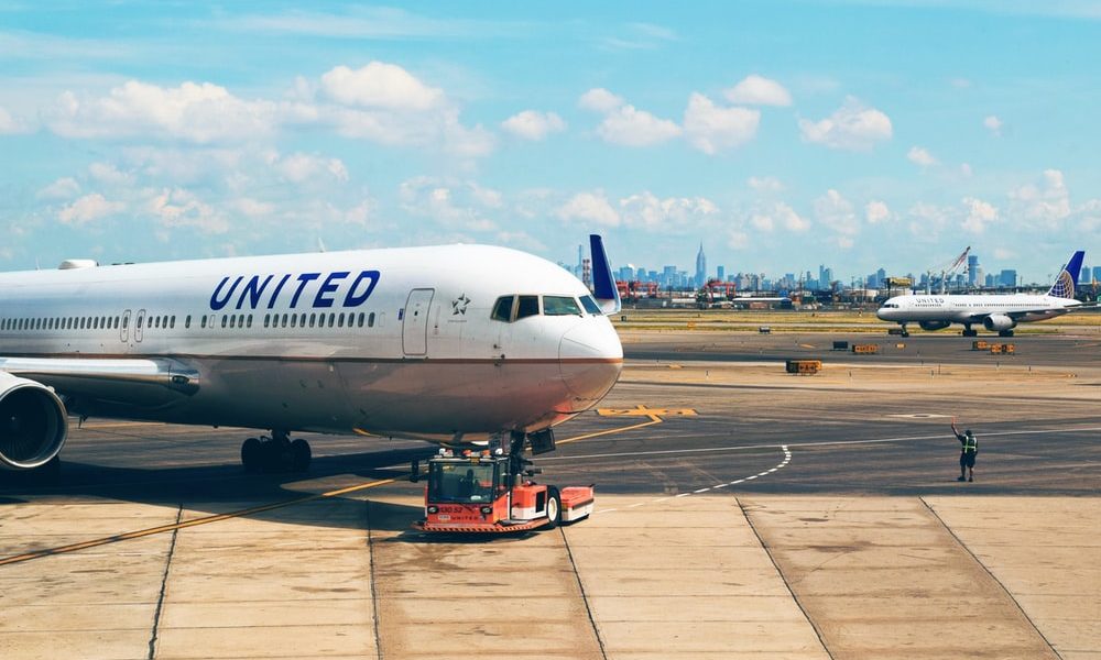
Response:
[[[266,136],[277,117],[275,103],[244,101],[209,82],[164,88],[130,80],[100,98],[79,99],[66,91],[45,119],[65,138],[168,138],[205,144]]]

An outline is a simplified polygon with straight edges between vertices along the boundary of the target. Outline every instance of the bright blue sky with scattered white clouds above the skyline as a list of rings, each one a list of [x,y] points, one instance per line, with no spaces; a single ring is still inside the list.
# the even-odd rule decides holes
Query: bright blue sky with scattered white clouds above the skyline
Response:
[[[0,0],[0,270],[1101,264],[1101,1]]]

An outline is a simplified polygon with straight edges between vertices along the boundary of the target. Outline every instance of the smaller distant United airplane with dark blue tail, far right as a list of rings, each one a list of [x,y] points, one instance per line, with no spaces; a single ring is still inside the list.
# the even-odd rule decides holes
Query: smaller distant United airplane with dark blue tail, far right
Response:
[[[916,322],[923,330],[940,330],[962,323],[963,337],[975,337],[971,326],[981,324],[998,331],[999,337],[1013,337],[1013,328],[1026,321],[1043,321],[1062,316],[1081,301],[1075,299],[1078,273],[1082,268],[1083,251],[1078,251],[1059,273],[1047,294],[1012,295],[920,295],[895,296],[875,312],[884,321],[902,326],[902,336],[909,337],[906,323]]]

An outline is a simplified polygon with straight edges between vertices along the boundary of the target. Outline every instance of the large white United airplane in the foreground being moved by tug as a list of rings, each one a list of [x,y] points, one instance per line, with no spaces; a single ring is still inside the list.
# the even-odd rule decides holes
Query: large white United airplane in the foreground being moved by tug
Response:
[[[623,364],[590,240],[595,297],[487,245],[0,274],[0,468],[53,472],[68,414],[270,429],[250,471],[304,471],[293,431],[553,446]]]

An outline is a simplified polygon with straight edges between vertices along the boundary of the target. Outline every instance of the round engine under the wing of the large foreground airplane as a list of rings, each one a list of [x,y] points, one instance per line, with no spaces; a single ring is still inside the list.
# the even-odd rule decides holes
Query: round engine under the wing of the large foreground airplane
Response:
[[[62,451],[65,404],[42,383],[0,372],[0,468],[34,470]]]

